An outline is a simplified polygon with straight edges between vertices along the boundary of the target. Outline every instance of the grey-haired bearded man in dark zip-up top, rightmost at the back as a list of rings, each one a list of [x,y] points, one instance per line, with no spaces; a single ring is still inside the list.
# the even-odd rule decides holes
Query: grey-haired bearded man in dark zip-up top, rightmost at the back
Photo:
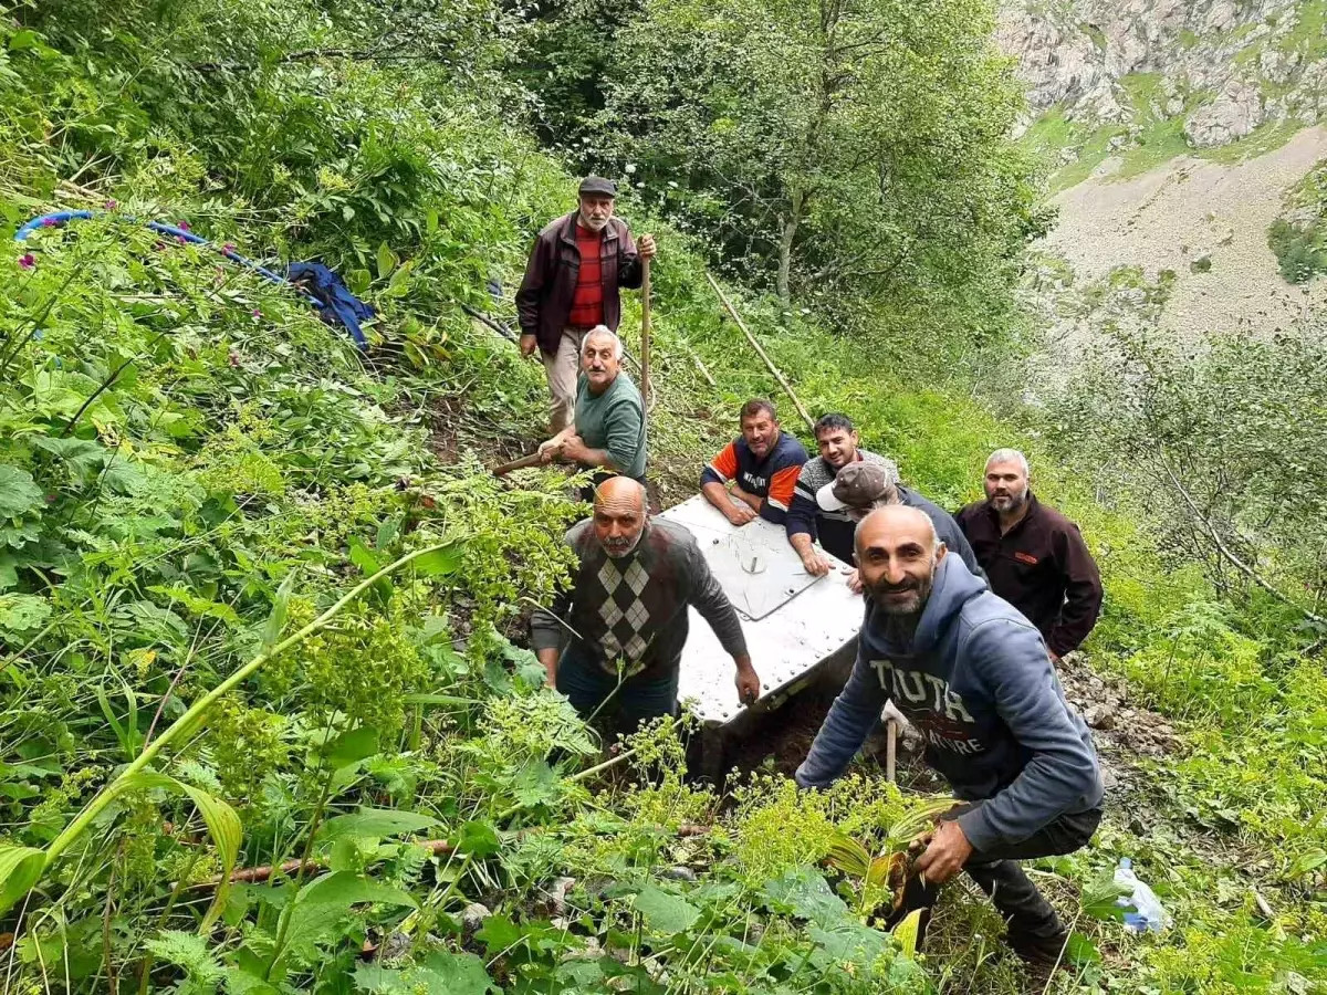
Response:
[[[993,452],[983,483],[986,500],[954,517],[991,590],[1036,626],[1059,663],[1087,638],[1101,613],[1096,560],[1078,525],[1032,495],[1022,452]]]

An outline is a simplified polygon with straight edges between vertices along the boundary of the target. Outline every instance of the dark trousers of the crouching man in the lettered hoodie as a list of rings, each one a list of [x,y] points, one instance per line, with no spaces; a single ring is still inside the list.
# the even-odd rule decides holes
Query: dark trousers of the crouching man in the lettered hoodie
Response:
[[[950,809],[941,819],[957,819],[981,805],[981,801],[967,801]],[[1010,946],[1020,955],[1059,957],[1067,934],[1060,917],[1036,890],[1036,885],[1023,873],[1018,861],[1072,853],[1092,838],[1100,821],[1100,808],[1064,815],[1038,829],[1022,842],[1001,844],[989,850],[974,852],[963,865],[967,877],[977,882],[1005,918],[1005,923],[1009,926]],[[909,913],[922,909],[917,934],[920,942],[925,937],[930,910],[938,897],[938,885],[922,884],[916,874],[909,877],[904,886],[902,903],[890,915],[890,926]]]

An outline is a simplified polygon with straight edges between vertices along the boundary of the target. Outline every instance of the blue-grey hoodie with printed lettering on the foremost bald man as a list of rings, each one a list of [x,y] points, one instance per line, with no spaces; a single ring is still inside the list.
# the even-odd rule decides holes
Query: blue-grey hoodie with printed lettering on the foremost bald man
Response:
[[[1040,634],[962,560],[940,563],[910,641],[892,642],[886,618],[868,598],[857,663],[798,784],[824,787],[841,775],[893,698],[954,793],[986,800],[958,817],[977,850],[1019,842],[1060,815],[1101,804],[1092,738],[1064,700]]]

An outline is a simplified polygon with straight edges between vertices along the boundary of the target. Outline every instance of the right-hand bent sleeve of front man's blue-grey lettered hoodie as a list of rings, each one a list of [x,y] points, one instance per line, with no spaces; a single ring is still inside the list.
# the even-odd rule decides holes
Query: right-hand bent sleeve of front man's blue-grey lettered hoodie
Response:
[[[1020,842],[1096,795],[1101,769],[1085,727],[1074,720],[1040,635],[1030,625],[995,620],[978,626],[966,651],[995,698],[995,712],[1031,751],[1023,772],[981,807],[958,817],[978,850]]]

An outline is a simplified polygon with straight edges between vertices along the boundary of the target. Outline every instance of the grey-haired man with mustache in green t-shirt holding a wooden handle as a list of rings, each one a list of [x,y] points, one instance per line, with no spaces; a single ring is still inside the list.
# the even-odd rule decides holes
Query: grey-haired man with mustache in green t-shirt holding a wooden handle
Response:
[[[597,470],[596,479],[621,474],[645,483],[645,405],[622,371],[622,340],[604,325],[591,329],[580,366],[576,421],[540,443],[540,455]]]

